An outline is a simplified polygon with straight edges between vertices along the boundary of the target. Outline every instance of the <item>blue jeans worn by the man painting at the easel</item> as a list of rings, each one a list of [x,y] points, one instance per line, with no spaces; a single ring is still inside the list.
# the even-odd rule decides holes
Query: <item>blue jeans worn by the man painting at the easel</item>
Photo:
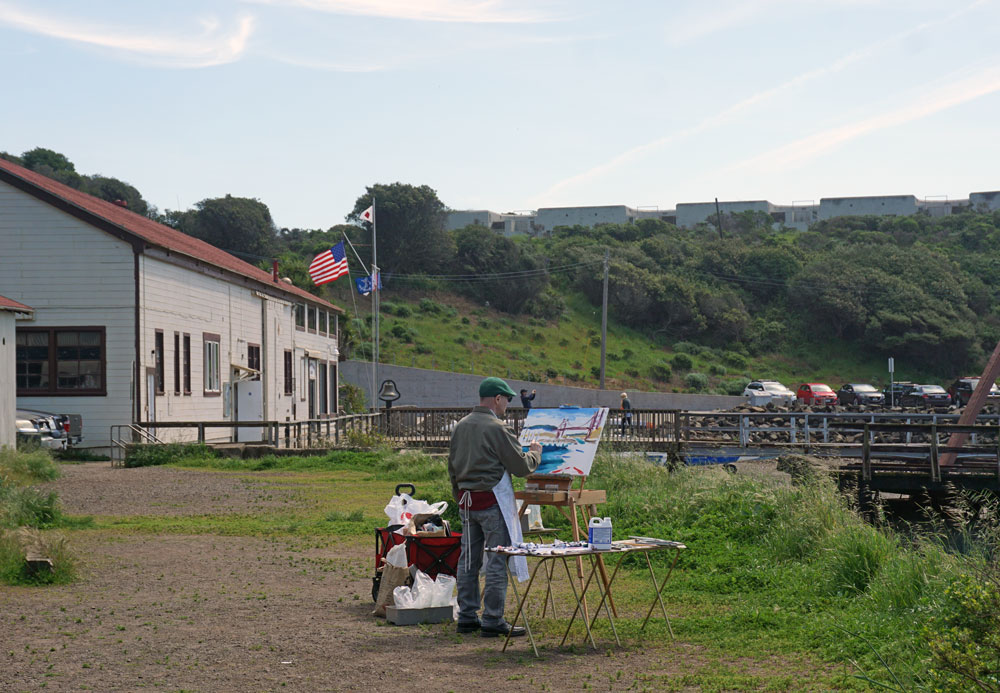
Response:
[[[458,562],[458,622],[479,620],[479,570],[483,564],[483,547],[509,546],[510,534],[503,521],[500,506],[485,510],[470,510],[469,521],[462,525],[462,556]],[[503,625],[503,606],[507,600],[506,557],[486,554],[486,581],[483,585],[482,624]]]

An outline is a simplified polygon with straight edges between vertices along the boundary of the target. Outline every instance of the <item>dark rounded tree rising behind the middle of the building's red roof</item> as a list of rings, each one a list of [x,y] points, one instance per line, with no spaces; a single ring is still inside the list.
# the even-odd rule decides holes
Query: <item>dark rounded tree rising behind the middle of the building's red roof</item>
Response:
[[[247,256],[269,257],[277,230],[271,211],[247,197],[205,199],[187,212],[167,211],[168,223],[216,248]]]

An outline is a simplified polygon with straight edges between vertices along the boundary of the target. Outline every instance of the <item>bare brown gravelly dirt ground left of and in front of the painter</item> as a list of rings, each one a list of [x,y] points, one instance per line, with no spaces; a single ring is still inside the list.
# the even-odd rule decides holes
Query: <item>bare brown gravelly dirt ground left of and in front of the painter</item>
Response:
[[[55,488],[72,514],[283,501],[239,475],[107,463],[68,466]],[[74,584],[0,586],[0,691],[691,690],[685,680],[706,668],[761,665],[659,638],[556,650],[552,633],[536,660],[526,638],[502,653],[501,639],[454,624],[386,626],[371,616],[367,539],[82,530],[71,541]]]

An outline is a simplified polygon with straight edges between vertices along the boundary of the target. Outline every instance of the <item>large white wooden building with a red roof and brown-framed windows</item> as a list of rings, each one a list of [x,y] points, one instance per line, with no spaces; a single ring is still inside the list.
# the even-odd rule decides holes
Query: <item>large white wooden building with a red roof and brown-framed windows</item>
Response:
[[[106,448],[113,425],[137,421],[337,411],[340,308],[2,159],[0,294],[34,308],[17,325],[18,405],[82,415],[84,447]]]

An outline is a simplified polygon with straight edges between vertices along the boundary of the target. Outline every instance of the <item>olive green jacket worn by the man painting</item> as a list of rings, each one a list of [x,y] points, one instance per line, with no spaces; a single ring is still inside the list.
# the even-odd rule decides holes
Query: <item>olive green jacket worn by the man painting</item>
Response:
[[[458,500],[463,491],[491,491],[506,469],[512,476],[527,476],[538,468],[542,455],[523,452],[510,426],[486,407],[475,407],[458,422],[451,434],[448,476]]]

